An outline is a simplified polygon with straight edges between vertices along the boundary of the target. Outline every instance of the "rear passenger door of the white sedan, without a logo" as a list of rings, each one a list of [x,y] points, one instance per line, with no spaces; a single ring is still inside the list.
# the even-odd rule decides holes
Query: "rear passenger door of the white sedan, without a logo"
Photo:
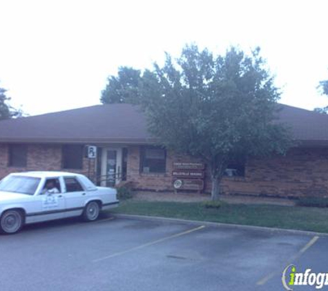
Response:
[[[77,177],[64,177],[66,191],[64,193],[65,217],[75,217],[82,214],[86,201],[86,191]]]

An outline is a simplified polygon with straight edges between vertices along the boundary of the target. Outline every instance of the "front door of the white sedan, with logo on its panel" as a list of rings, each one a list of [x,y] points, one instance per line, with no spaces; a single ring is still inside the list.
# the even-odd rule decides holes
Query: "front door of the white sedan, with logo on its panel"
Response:
[[[55,185],[57,191],[48,191],[46,185],[50,182]],[[27,221],[38,222],[64,218],[65,200],[58,177],[44,179],[41,190],[33,197],[33,200],[33,211],[28,211],[26,214]]]

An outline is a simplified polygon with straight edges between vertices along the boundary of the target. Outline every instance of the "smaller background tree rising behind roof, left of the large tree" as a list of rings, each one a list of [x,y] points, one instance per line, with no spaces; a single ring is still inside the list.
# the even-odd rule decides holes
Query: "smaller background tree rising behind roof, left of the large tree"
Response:
[[[139,103],[138,86],[140,70],[120,67],[117,76],[108,77],[106,88],[102,91],[102,103]]]

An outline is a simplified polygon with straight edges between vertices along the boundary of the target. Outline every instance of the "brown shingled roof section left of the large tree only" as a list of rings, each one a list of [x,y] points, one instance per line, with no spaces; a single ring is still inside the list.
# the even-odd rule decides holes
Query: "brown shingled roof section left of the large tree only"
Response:
[[[152,139],[139,108],[113,104],[1,121],[0,141],[145,143]]]

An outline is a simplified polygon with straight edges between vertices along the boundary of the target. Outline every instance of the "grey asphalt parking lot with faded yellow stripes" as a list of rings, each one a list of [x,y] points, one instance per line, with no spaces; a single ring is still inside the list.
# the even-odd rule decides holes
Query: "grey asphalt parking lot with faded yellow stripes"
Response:
[[[68,219],[0,236],[0,290],[284,290],[289,263],[328,272],[327,249],[328,237],[315,234]]]

